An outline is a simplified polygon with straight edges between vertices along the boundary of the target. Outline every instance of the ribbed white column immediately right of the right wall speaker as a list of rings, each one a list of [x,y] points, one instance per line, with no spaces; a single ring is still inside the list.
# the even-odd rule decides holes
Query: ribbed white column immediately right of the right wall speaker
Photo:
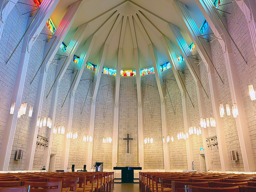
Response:
[[[252,2],[252,1],[250,1]],[[254,159],[252,155],[252,146],[251,140],[248,132],[247,121],[245,117],[244,103],[242,98],[242,92],[240,89],[240,82],[237,76],[236,62],[234,58],[234,53],[232,49],[231,39],[228,32],[225,30],[221,21],[218,19],[217,14],[220,17],[220,14],[213,11],[213,3],[210,0],[196,0],[196,4],[203,13],[205,19],[209,23],[215,36],[220,36],[223,33],[218,41],[224,52],[224,57],[226,61],[226,68],[228,73],[228,83],[231,93],[231,99],[233,104],[237,104],[238,116],[236,117],[236,127],[241,147],[241,152],[243,156],[244,171],[255,171]],[[255,2],[254,2],[255,5]],[[253,10],[256,12],[255,10]],[[228,28],[227,21],[225,18],[221,17],[222,23]],[[255,37],[254,37],[255,38]]]

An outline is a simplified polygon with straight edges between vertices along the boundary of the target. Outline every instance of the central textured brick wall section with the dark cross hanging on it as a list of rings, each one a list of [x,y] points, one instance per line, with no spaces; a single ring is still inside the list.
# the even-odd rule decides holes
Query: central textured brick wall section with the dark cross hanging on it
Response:
[[[118,165],[139,166],[138,163],[138,111],[136,77],[121,77],[119,91]],[[127,133],[129,141],[127,153]]]

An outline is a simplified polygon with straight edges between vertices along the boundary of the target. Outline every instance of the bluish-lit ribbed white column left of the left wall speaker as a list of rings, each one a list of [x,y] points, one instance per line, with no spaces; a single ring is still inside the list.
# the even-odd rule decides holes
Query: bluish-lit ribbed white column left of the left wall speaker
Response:
[[[59,0],[45,0],[41,5],[41,14],[40,16],[37,14],[36,18],[28,30],[30,36],[37,36],[44,28],[46,21],[49,19],[50,15],[52,14],[54,8],[58,4]],[[37,21],[37,22],[36,22]],[[31,22],[31,18],[28,19],[27,26]],[[38,24],[37,27],[35,26],[35,22]],[[27,39],[28,38],[28,39]],[[21,53],[20,53],[20,60],[18,63],[18,70],[15,78],[14,88],[12,92],[11,104],[12,102],[16,103],[14,114],[7,115],[6,126],[3,135],[2,146],[0,149],[0,154],[3,158],[0,160],[0,170],[8,170],[10,156],[12,151],[12,143],[15,135],[16,124],[17,124],[17,115],[18,115],[18,108],[21,103],[22,92],[24,88],[27,68],[28,68],[28,60],[29,60],[29,52],[31,50],[33,43],[33,39],[27,36],[22,43]],[[7,63],[8,65],[8,63]],[[35,143],[36,145],[36,143]]]

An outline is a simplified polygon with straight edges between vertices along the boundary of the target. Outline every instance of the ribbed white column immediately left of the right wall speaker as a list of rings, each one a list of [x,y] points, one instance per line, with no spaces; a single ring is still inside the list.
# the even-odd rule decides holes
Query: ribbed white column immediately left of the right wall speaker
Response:
[[[213,116],[216,122],[216,134],[217,134],[218,143],[219,143],[218,146],[219,146],[219,153],[220,153],[221,169],[222,171],[229,171],[230,168],[229,168],[227,147],[226,147],[226,142],[225,142],[225,137],[223,132],[222,119],[219,113],[220,103],[219,103],[218,89],[217,89],[214,69],[212,66],[211,46],[209,43],[206,43],[205,41],[201,41],[204,46],[199,42],[198,36],[200,36],[201,33],[198,27],[196,26],[195,21],[190,16],[186,5],[177,0],[174,0],[173,5],[177,8],[178,12],[180,13],[180,16],[184,20],[188,35],[194,42],[201,59],[204,59],[204,61],[206,62],[205,65],[206,65],[206,68],[208,68],[208,78],[209,78],[210,92],[211,92],[211,99],[212,99]]]

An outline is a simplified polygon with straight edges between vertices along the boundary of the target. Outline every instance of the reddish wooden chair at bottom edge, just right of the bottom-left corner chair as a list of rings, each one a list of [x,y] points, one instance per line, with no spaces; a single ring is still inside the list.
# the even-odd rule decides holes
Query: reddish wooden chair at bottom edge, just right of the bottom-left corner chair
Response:
[[[30,185],[30,192],[61,192],[61,180],[55,182],[25,181],[25,185]]]

